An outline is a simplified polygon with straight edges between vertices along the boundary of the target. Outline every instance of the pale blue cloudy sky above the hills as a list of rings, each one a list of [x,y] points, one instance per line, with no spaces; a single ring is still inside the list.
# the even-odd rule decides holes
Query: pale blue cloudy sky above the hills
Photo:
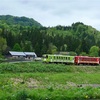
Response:
[[[100,31],[100,0],[0,0],[0,15],[33,18],[46,27],[82,22]]]

